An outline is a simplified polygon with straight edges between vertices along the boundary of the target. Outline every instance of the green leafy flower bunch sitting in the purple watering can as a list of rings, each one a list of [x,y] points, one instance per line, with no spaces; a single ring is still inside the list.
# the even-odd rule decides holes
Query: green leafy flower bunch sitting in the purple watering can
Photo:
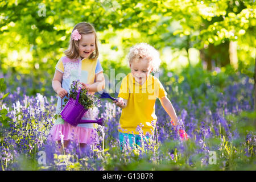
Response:
[[[79,80],[74,80],[69,89],[69,97],[76,100],[76,96],[79,93],[80,89],[80,96],[79,96],[79,103],[84,106],[85,110],[93,109],[93,107],[100,107],[101,101],[98,96],[94,96],[93,94],[89,94],[88,90],[85,88],[82,89],[82,85]]]

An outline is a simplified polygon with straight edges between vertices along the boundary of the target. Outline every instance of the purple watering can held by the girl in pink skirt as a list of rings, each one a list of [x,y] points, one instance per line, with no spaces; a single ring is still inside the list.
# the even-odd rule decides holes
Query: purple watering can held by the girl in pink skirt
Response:
[[[77,126],[78,124],[81,124],[81,123],[97,123],[98,125],[102,126],[104,123],[103,118],[98,120],[82,119],[82,117],[88,110],[84,109],[84,106],[82,106],[79,103],[80,90],[81,89],[79,89],[79,93],[76,96],[76,100],[73,100],[73,98],[69,98],[67,104],[60,112],[61,118],[63,118],[64,121],[68,122],[73,126]],[[62,108],[62,100],[61,100],[61,108]]]

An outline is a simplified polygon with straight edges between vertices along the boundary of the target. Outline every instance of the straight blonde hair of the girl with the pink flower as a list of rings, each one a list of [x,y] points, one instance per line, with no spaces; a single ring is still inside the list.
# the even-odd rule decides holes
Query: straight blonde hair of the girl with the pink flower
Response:
[[[97,44],[97,34],[95,31],[95,28],[92,26],[92,24],[87,22],[81,22],[77,23],[76,26],[73,28],[72,32],[74,30],[79,31],[79,34],[81,35],[87,35],[87,34],[94,34],[95,35],[95,51],[88,57],[89,59],[97,59],[98,58],[98,44]],[[79,57],[79,41],[80,40],[72,40],[70,38],[69,40],[69,46],[68,49],[64,52],[69,59],[77,59]]]

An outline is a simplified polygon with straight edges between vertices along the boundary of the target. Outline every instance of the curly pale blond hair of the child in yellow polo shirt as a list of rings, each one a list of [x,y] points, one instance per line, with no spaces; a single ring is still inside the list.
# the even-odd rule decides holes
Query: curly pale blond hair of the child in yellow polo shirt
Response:
[[[158,71],[160,67],[160,55],[159,52],[147,43],[139,43],[130,48],[130,52],[127,55],[129,64],[133,61],[139,61],[146,58],[152,65],[153,72]]]

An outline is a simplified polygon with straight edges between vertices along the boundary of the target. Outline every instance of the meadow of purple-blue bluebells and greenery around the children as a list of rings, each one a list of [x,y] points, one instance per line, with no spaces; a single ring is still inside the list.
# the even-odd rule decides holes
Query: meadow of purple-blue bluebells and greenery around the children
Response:
[[[121,109],[102,100],[94,112],[105,119],[104,127],[95,128],[100,143],[88,146],[84,155],[77,155],[75,143],[65,155],[59,154],[47,140],[57,117],[55,95],[28,96],[26,88],[13,88],[6,82],[4,93],[10,94],[0,104],[10,119],[8,125],[0,123],[1,170],[256,169],[252,78],[239,72],[188,68],[180,75],[162,73],[160,81],[191,137],[187,142],[179,141],[157,101],[154,136],[141,148],[127,146],[121,152],[117,131]]]

